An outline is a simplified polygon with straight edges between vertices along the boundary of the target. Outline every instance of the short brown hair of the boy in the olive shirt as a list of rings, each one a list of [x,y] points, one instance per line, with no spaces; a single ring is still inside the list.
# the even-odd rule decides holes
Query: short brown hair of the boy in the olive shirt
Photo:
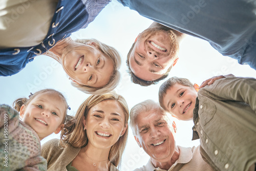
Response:
[[[166,91],[170,89],[172,86],[174,86],[174,84],[176,83],[180,84],[181,86],[187,86],[187,87],[190,87],[191,89],[194,89],[193,83],[191,83],[186,78],[171,77],[166,81],[164,81],[164,83],[162,83],[162,85],[159,88],[158,99],[159,99],[159,104],[165,111],[168,111],[168,109],[166,109],[163,104],[163,98],[166,95]]]

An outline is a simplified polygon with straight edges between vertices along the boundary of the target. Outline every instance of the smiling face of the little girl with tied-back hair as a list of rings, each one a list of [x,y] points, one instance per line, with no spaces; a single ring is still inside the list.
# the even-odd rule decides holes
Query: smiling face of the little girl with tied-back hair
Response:
[[[22,105],[19,115],[42,140],[52,133],[59,133],[65,113],[65,102],[56,93],[45,92],[36,95],[26,106]]]

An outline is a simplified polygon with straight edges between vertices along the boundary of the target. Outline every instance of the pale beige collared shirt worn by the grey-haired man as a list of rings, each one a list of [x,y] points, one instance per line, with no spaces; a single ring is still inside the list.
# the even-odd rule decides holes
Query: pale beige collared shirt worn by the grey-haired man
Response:
[[[211,171],[212,169],[201,157],[198,147],[182,147],[178,146],[180,150],[179,159],[168,169],[164,170],[156,168],[151,159],[146,165],[136,168],[134,171]]]

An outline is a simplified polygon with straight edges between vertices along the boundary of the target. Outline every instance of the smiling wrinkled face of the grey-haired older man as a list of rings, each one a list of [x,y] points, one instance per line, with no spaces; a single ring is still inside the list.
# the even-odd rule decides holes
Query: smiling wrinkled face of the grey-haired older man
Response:
[[[140,113],[136,118],[136,141],[154,160],[171,158],[175,140],[169,120],[161,110]]]

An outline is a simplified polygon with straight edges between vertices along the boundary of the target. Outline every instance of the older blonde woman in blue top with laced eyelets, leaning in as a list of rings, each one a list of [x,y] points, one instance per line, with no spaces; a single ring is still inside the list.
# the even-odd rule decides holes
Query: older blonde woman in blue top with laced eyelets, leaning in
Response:
[[[120,78],[119,53],[97,40],[84,45],[69,37],[86,28],[109,2],[1,1],[0,76],[16,74],[44,54],[60,62],[79,90],[89,94],[113,90]]]

